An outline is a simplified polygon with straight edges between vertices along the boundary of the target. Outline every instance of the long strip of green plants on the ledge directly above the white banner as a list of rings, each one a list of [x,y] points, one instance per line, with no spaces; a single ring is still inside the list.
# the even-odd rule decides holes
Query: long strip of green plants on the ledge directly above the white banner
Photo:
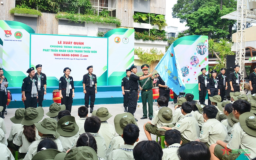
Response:
[[[71,13],[58,13],[55,16],[57,19],[67,19],[70,21],[74,21],[75,23],[79,22],[98,22],[98,23],[107,23],[107,24],[116,24],[116,26],[121,25],[121,20],[117,19],[116,17],[101,17],[101,16],[94,16],[94,15],[83,15],[83,14],[71,14]]]

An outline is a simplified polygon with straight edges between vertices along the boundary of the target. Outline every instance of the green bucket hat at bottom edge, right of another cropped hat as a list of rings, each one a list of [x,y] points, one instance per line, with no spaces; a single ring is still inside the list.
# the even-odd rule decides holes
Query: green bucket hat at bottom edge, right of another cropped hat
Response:
[[[88,146],[70,149],[64,160],[99,160],[94,149]]]

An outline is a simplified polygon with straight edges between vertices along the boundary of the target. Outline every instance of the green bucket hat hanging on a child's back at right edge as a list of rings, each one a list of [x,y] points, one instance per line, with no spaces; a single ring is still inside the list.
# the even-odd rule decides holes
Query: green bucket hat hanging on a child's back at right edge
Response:
[[[256,116],[252,112],[245,112],[239,116],[239,122],[244,132],[256,137]]]

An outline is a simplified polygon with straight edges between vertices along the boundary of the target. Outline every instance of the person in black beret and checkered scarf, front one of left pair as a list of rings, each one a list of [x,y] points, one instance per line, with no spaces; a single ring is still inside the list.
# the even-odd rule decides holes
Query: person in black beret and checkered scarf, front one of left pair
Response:
[[[28,76],[23,79],[21,91],[24,99],[25,109],[37,107],[37,80],[35,79],[35,69],[31,67],[27,70]]]

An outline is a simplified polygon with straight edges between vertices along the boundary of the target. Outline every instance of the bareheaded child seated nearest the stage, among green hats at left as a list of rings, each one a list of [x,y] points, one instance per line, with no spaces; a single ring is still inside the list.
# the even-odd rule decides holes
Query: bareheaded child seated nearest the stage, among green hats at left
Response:
[[[77,121],[76,124],[79,127],[79,135],[85,133],[84,131],[84,122],[86,117],[88,116],[88,108],[85,106],[81,106],[78,108],[78,116],[80,117]]]

